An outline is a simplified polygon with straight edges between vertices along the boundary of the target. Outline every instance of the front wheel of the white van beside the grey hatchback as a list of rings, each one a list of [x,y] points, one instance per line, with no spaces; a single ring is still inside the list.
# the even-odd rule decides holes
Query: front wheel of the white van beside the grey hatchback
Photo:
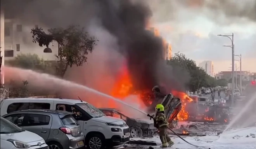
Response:
[[[92,134],[86,139],[86,147],[88,149],[103,149],[104,148],[104,137],[100,134]]]

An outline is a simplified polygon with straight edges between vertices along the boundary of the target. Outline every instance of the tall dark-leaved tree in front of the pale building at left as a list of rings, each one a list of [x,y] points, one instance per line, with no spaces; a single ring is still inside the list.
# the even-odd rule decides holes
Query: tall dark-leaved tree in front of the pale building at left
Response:
[[[67,67],[73,65],[81,66],[87,61],[87,55],[91,53],[93,47],[98,41],[95,37],[89,36],[84,28],[79,26],[69,26],[66,29],[53,28],[48,29],[48,34],[42,28],[33,28],[33,42],[38,43],[39,46],[46,46],[53,41],[59,44],[59,54],[56,55],[57,62],[57,75],[64,77]]]

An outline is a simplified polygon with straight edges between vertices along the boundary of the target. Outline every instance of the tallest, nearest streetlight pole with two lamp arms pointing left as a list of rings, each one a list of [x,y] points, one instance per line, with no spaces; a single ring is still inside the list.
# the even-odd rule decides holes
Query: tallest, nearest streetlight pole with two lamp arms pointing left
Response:
[[[223,37],[227,37],[227,38],[229,38],[230,40],[231,40],[231,43],[232,43],[232,45],[231,46],[229,46],[230,48],[232,48],[232,91],[231,91],[231,96],[232,96],[232,98],[231,98],[231,100],[232,100],[232,103],[231,103],[231,105],[233,106],[234,105],[234,85],[235,85],[235,83],[234,83],[234,63],[235,63],[235,52],[234,52],[234,33],[232,33],[232,35],[217,35],[217,36],[223,36]],[[232,38],[230,38],[230,37],[232,37]]]

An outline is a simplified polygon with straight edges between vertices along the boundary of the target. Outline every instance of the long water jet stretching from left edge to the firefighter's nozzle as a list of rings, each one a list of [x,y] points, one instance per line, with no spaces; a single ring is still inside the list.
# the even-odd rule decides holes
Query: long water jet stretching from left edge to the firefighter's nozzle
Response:
[[[33,70],[26,70],[26,69],[20,69],[15,67],[4,67],[4,72],[7,76],[5,77],[6,80],[13,80],[15,82],[18,82],[21,80],[27,80],[29,82],[29,86],[32,86],[33,88],[44,89],[44,90],[55,90],[56,92],[71,93],[71,92],[78,92],[78,90],[82,90],[84,94],[93,93],[94,95],[100,95],[102,97],[105,97],[105,98],[97,98],[97,100],[101,100],[97,102],[104,103],[104,101],[106,102],[106,100],[112,99],[122,104],[121,106],[126,106],[133,110],[139,111],[144,115],[147,115],[147,113],[145,113],[144,111],[139,110],[138,108],[135,108],[132,104],[128,104],[124,101],[121,101],[121,99],[114,98],[113,96],[104,94],[100,91],[97,91],[87,86],[83,86],[81,84],[77,84],[64,79],[59,79],[57,77],[54,77],[53,75],[42,74],[42,73],[35,72]],[[80,94],[77,94],[77,95],[80,96]],[[85,101],[93,104],[95,103],[93,99],[85,98]]]

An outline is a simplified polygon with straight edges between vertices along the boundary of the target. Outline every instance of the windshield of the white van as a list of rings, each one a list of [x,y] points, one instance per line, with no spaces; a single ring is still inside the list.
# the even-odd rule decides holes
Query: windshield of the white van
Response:
[[[102,111],[95,108],[92,104],[89,103],[77,103],[77,106],[79,106],[81,109],[85,110],[89,115],[92,117],[101,117],[106,116]]]

